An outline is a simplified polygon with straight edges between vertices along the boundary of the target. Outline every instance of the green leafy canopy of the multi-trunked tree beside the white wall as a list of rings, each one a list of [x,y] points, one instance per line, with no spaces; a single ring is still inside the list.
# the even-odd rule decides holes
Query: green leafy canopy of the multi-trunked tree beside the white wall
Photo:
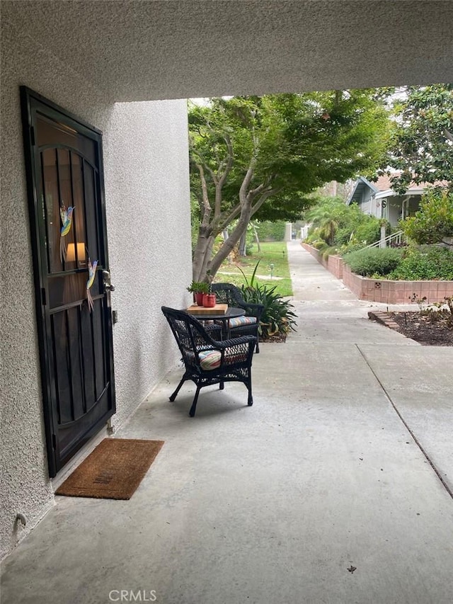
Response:
[[[248,190],[272,186],[273,196],[279,195],[279,218],[285,220],[287,207],[293,219],[293,199],[300,213],[309,201],[306,193],[377,166],[384,152],[388,120],[384,104],[372,98],[372,91],[234,97],[211,103],[189,109],[190,158],[192,164],[202,162],[212,170],[207,184],[213,204],[212,178],[232,152],[222,207],[238,203],[239,188],[253,163]],[[200,197],[196,170],[192,186]],[[273,199],[266,204],[272,205]]]

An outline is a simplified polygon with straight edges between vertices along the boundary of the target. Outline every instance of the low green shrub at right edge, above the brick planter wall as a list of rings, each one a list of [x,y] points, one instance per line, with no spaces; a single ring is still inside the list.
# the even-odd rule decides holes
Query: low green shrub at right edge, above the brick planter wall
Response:
[[[408,249],[388,279],[423,281],[453,280],[453,251],[437,246]]]

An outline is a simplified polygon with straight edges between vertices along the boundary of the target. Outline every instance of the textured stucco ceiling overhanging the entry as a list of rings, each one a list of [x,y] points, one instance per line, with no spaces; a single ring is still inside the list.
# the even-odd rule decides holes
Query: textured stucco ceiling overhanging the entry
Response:
[[[453,1],[8,1],[115,101],[453,81]]]

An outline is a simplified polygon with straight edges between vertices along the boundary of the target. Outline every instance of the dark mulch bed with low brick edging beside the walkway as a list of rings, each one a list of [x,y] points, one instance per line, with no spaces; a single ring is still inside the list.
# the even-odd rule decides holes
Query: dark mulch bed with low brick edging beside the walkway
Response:
[[[435,316],[427,312],[369,312],[368,317],[422,346],[453,346],[453,319],[447,310]]]

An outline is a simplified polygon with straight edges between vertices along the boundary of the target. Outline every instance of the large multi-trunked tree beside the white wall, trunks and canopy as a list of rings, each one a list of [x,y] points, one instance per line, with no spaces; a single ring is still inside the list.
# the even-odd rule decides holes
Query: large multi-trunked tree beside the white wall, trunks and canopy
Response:
[[[387,127],[379,91],[216,98],[191,106],[191,187],[200,205],[194,280],[217,272],[252,217],[294,220],[323,183],[375,169]],[[213,254],[215,238],[233,221]]]

